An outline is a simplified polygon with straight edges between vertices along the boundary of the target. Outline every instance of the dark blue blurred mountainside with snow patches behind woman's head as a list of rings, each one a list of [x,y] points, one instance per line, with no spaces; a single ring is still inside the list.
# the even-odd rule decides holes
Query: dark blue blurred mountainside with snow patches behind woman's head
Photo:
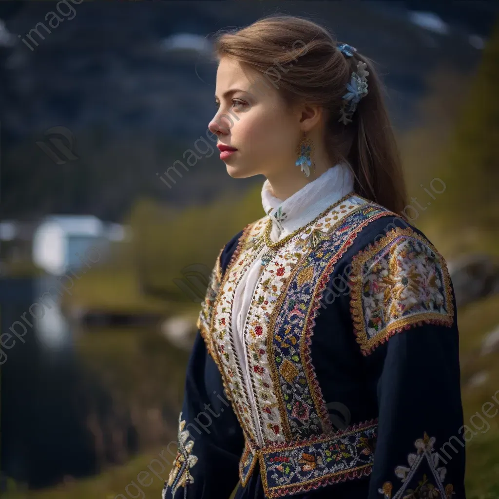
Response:
[[[276,6],[325,23],[338,40],[378,62],[399,131],[422,123],[417,106],[431,90],[430,75],[439,69],[467,75],[476,68],[498,11],[497,2],[485,1]],[[230,178],[216,155],[182,170],[189,180],[172,189],[156,173],[182,160],[198,137],[206,139],[215,112],[209,34],[270,13],[271,3],[122,1],[73,8],[74,18],[50,34],[40,28],[44,39],[33,35],[36,46],[26,35],[43,21],[50,3],[0,4],[0,18],[15,42],[4,41],[1,48],[3,216],[91,213],[119,221],[138,196],[184,208],[261,181]],[[447,84],[456,78],[461,80],[447,75]],[[73,167],[57,168],[40,156],[36,142],[54,126],[75,136]],[[20,183],[21,192],[15,188]]]

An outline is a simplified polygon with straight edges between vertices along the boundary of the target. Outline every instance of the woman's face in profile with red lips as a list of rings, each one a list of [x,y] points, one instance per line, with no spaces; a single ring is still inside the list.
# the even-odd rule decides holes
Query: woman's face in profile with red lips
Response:
[[[284,106],[271,81],[222,57],[215,101],[218,111],[208,128],[218,135],[217,146],[237,149],[221,153],[231,177],[262,174],[268,178],[293,169],[300,140],[299,115]]]

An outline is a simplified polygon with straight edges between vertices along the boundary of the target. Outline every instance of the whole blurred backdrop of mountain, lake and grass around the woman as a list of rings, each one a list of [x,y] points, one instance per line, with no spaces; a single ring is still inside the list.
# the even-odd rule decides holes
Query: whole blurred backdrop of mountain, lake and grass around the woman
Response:
[[[216,112],[210,35],[277,11],[376,61],[406,214],[452,270],[465,422],[481,411],[499,390],[498,2],[68,5],[74,13],[61,8],[35,44],[27,35],[56,2],[0,3],[2,332],[64,274],[62,246],[86,238],[103,257],[60,298],[57,318],[6,351],[2,497],[133,497],[127,484],[176,439],[207,273],[263,216],[263,177],[232,179],[202,141]],[[97,236],[82,221],[107,229]],[[499,497],[499,416],[489,423],[467,447],[469,499]],[[154,479],[144,494],[161,487]]]

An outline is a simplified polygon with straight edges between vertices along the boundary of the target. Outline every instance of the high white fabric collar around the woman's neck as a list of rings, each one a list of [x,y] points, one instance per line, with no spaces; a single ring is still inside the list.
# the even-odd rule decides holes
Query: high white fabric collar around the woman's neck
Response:
[[[285,200],[273,195],[270,182],[266,179],[261,189],[261,202],[265,213],[272,219],[271,241],[278,241],[311,222],[353,191],[353,185],[353,174],[346,163],[328,168],[320,177]]]

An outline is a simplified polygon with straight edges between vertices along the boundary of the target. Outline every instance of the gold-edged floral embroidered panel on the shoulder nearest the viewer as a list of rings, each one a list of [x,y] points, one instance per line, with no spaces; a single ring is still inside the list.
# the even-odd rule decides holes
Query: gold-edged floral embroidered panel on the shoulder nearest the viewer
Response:
[[[423,322],[453,324],[447,263],[410,228],[397,227],[359,251],[352,259],[350,288],[354,332],[363,355]]]

